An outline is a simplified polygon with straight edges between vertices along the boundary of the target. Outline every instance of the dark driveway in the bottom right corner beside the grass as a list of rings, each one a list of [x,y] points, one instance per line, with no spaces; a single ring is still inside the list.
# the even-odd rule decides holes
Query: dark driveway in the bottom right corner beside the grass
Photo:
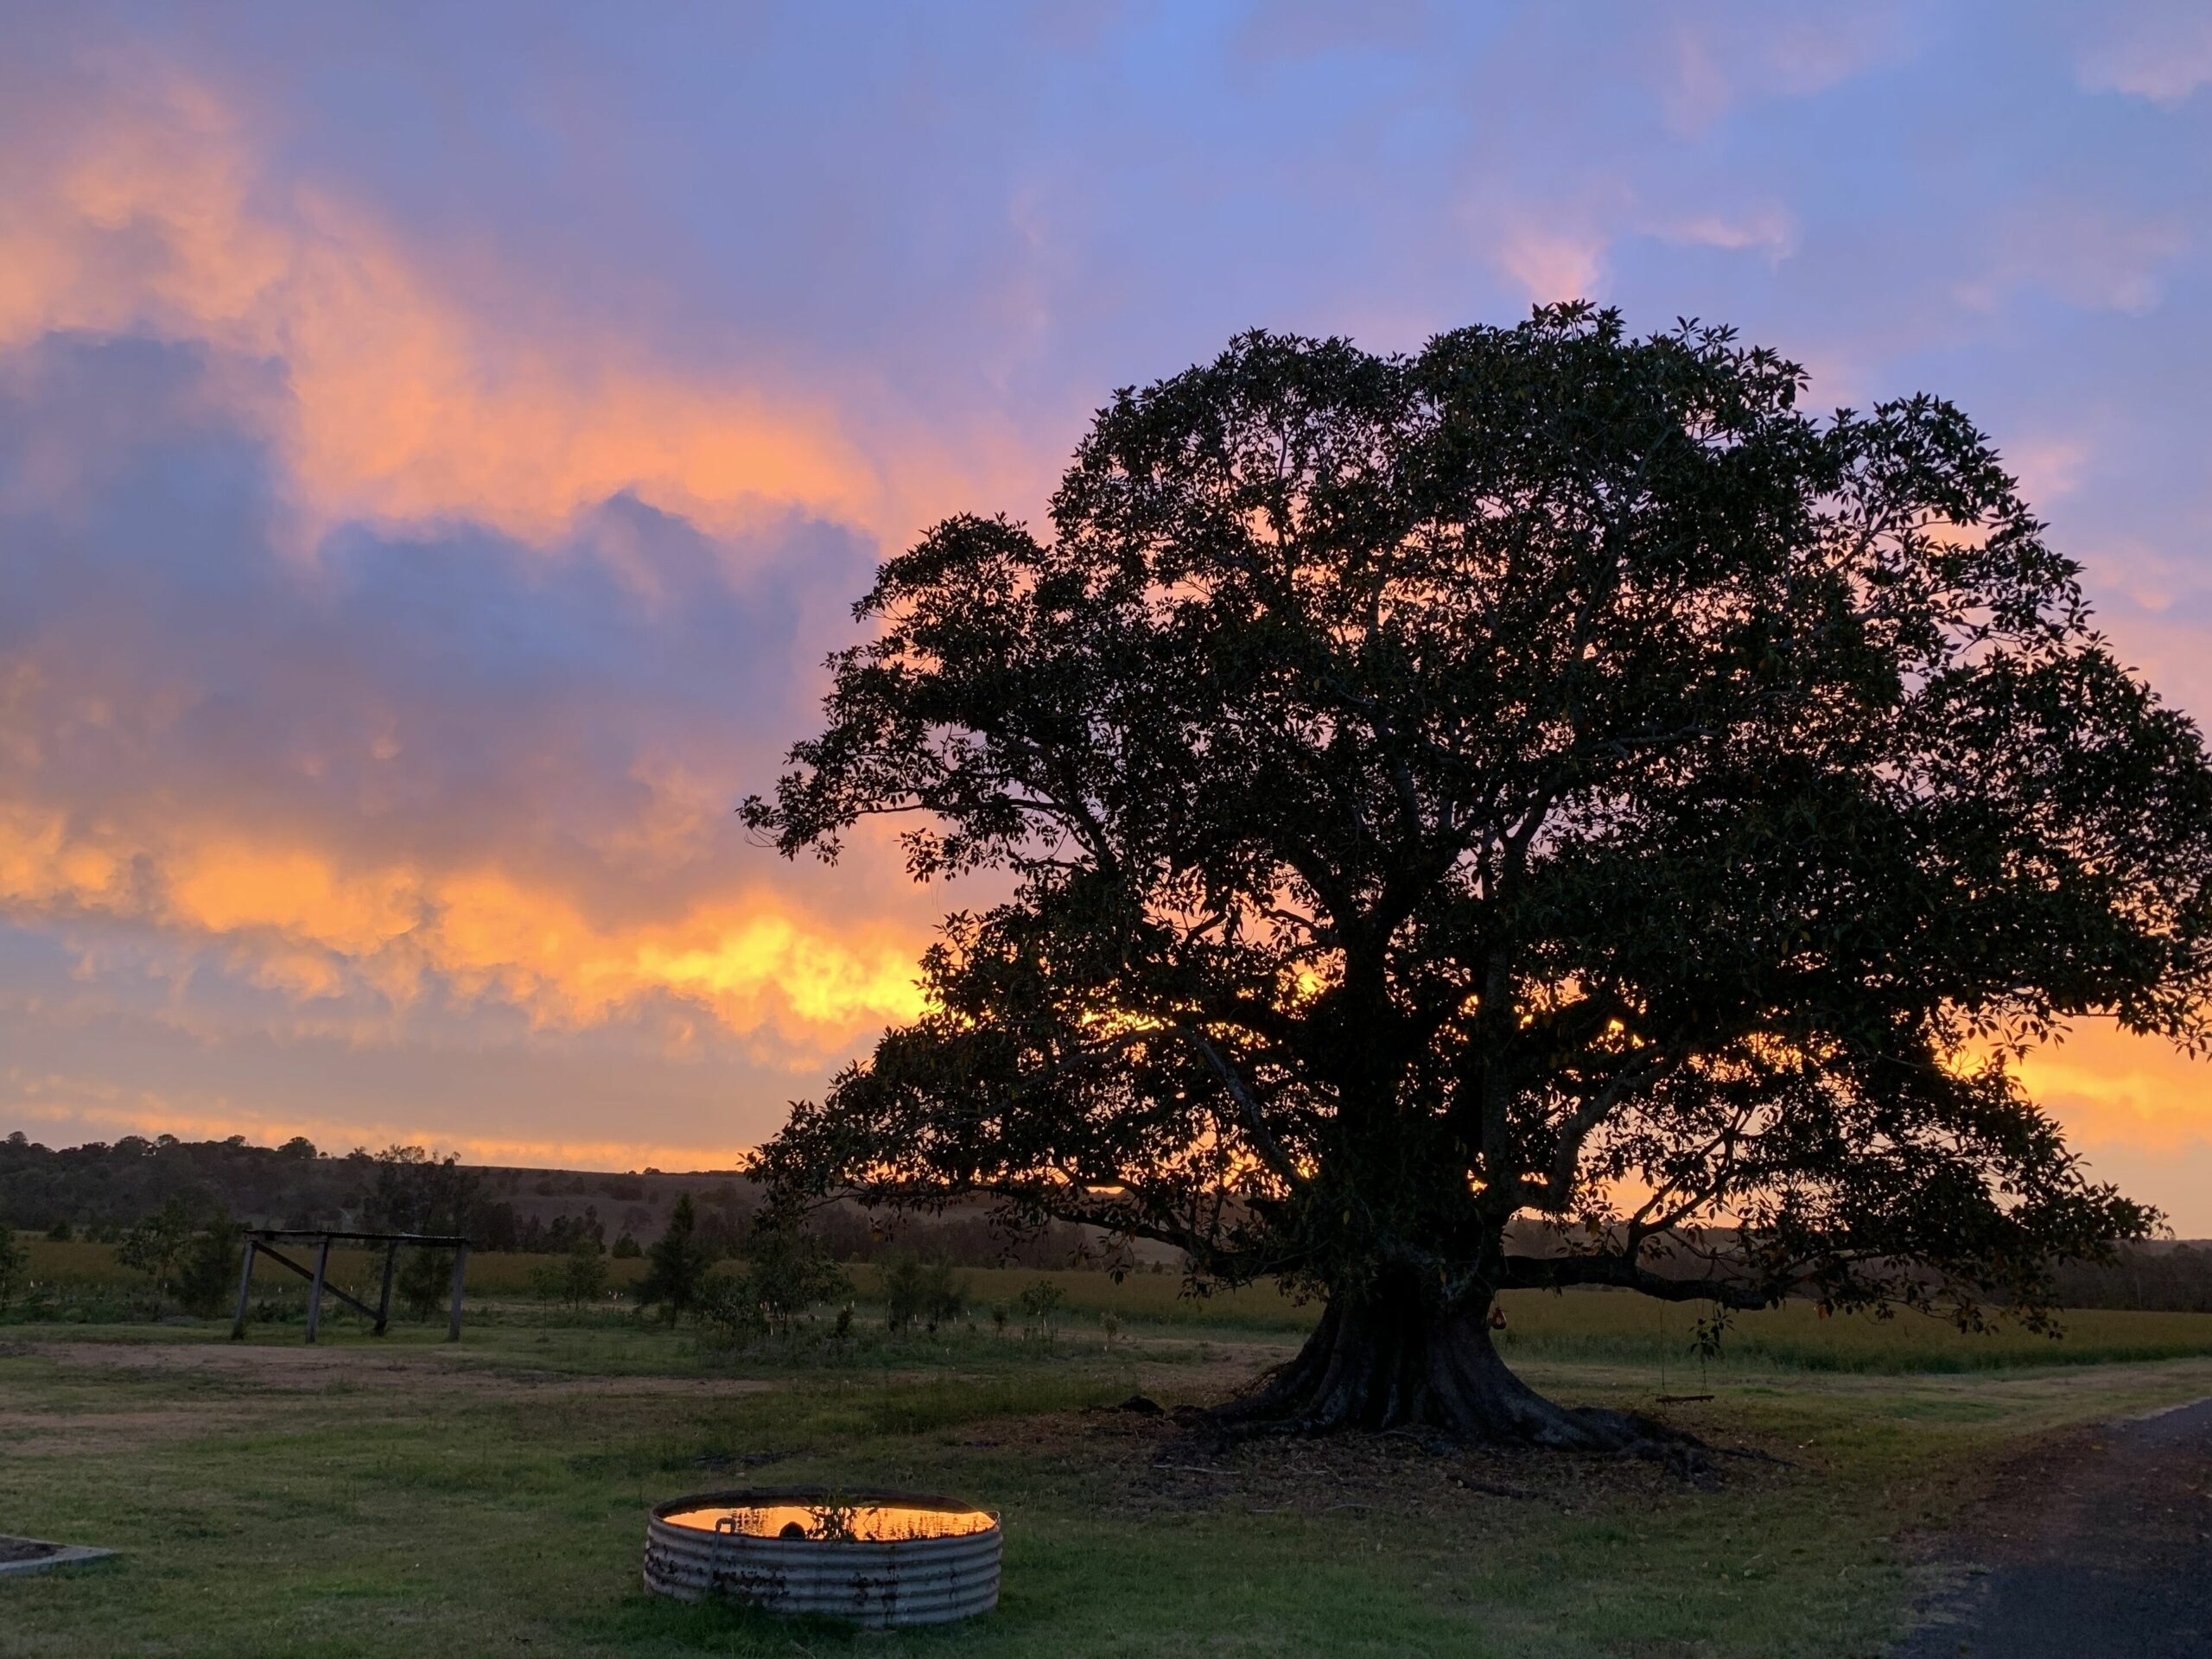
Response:
[[[2039,1442],[1924,1553],[1942,1588],[1896,1659],[2203,1659],[2212,1400]]]

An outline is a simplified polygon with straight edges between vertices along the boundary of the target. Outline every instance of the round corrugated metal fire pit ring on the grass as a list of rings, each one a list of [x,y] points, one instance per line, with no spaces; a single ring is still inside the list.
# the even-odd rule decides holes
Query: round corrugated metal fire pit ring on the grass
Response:
[[[655,1504],[646,1588],[728,1597],[869,1628],[949,1624],[998,1606],[998,1515],[949,1498],[776,1486]]]

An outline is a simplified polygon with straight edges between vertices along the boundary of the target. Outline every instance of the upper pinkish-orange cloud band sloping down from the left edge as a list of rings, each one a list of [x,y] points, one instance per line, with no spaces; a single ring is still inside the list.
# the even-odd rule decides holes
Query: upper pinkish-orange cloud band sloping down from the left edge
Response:
[[[542,538],[619,491],[710,529],[763,502],[885,515],[825,403],[695,380],[582,319],[471,312],[367,212],[274,188],[206,88],[135,86],[60,146],[0,173],[0,345],[150,325],[279,361],[272,436],[316,522]]]

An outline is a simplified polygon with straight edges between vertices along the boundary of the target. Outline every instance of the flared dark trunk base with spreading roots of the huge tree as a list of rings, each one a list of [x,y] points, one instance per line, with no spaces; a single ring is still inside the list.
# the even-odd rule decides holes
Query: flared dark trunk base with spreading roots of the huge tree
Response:
[[[1491,1345],[1491,1298],[1442,1305],[1407,1281],[1334,1296],[1298,1356],[1214,1411],[1248,1433],[1429,1429],[1571,1451],[1699,1462],[1699,1440],[1632,1411],[1562,1407]]]

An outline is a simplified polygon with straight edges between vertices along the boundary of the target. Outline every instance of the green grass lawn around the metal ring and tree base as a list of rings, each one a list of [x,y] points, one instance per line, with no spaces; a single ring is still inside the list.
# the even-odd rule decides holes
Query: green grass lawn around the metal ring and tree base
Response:
[[[863,1316],[843,1356],[734,1358],[522,1305],[458,1347],[425,1327],[307,1349],[283,1323],[243,1345],[219,1325],[0,1325],[0,1531],[124,1551],[0,1579],[0,1652],[1871,1655],[1916,1531],[2008,1449],[2212,1394],[2212,1316],[1971,1347],[1785,1314],[1699,1387],[1683,1310],[1666,1334],[1648,1303],[1593,1294],[1509,1310],[1540,1387],[1646,1409],[1710,1391],[1657,1409],[1787,1462],[1728,1460],[1714,1491],[1396,1438],[1214,1455],[1086,1409],[1219,1398],[1290,1352],[1292,1314],[1117,1307],[1110,1345],[1075,1323],[1051,1347],[987,1325],[889,1340]],[[2183,1356],[2110,1358],[2150,1352]],[[998,1613],[856,1635],[641,1593],[646,1504],[765,1482],[1002,1511]]]

